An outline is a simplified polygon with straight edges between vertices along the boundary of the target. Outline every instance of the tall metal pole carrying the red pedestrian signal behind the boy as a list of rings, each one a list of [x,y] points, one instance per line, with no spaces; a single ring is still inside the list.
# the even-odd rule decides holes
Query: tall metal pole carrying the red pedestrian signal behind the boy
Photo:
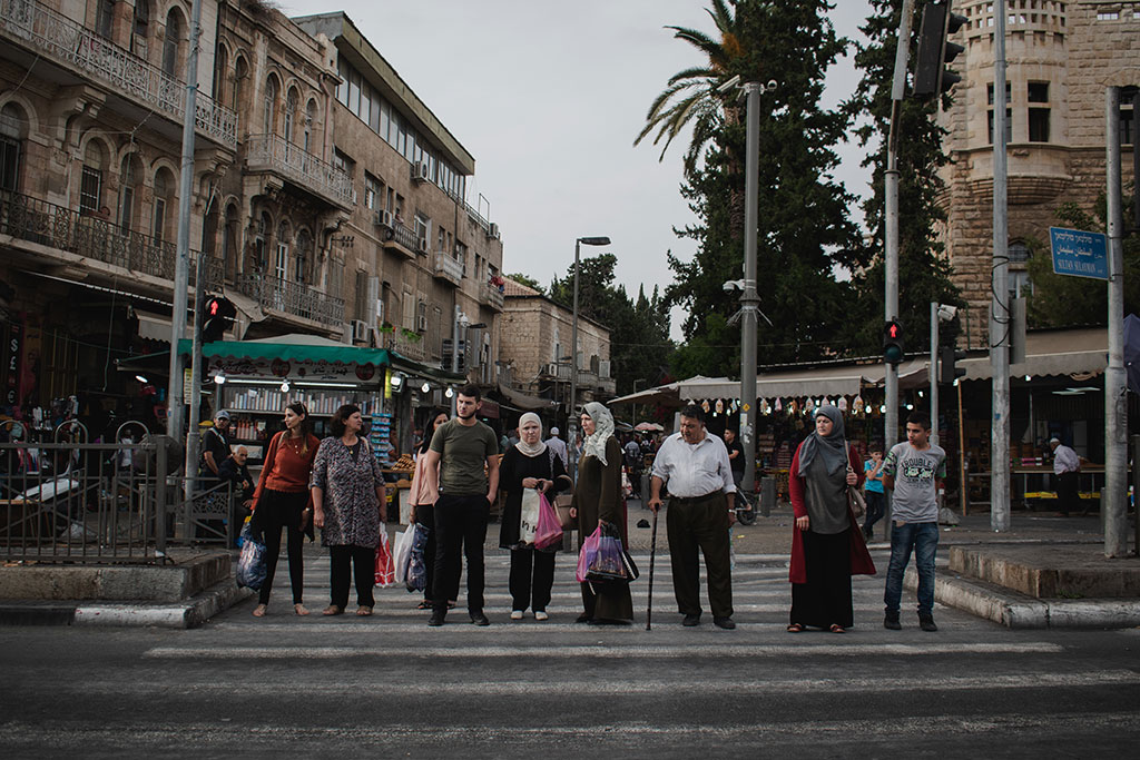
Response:
[[[914,0],[903,0],[898,16],[898,39],[895,47],[895,77],[890,89],[890,132],[887,136],[887,169],[882,178],[883,195],[883,318],[898,317],[898,112],[906,96],[906,64],[911,52],[911,22]],[[883,362],[882,385],[887,412],[883,418],[882,442],[886,451],[898,438],[898,368]],[[886,453],[885,451],[885,453]],[[890,495],[887,493],[883,520],[890,523]]]

